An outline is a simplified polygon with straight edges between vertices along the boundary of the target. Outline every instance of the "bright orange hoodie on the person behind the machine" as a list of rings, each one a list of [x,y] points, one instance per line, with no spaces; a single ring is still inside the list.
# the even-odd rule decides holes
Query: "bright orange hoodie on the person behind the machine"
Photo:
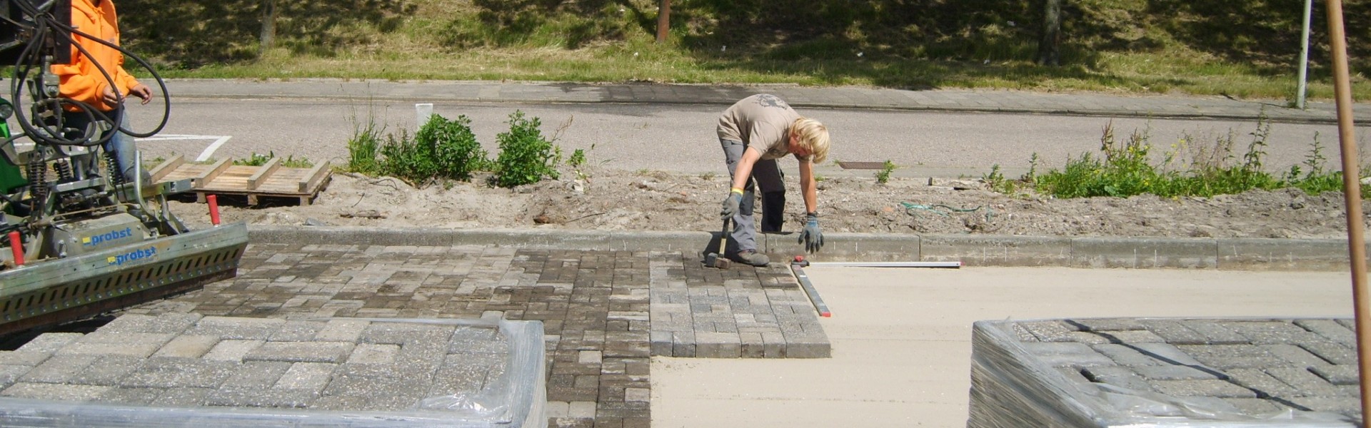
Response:
[[[119,21],[114,12],[112,0],[101,0],[100,5],[92,4],[90,0],[71,0],[71,26],[92,37],[119,44]],[[137,86],[138,81],[123,70],[123,54],[75,33],[71,37],[86,52],[90,52],[90,56],[81,55],[81,51],[71,47],[71,63],[52,66],[52,73],[60,78],[62,96],[95,106],[100,111],[114,110],[118,106],[107,106],[100,96],[110,81],[100,74],[95,64],[99,63],[106,73],[110,73],[119,95],[128,96],[129,89]],[[69,107],[67,110],[75,111],[77,108]]]

